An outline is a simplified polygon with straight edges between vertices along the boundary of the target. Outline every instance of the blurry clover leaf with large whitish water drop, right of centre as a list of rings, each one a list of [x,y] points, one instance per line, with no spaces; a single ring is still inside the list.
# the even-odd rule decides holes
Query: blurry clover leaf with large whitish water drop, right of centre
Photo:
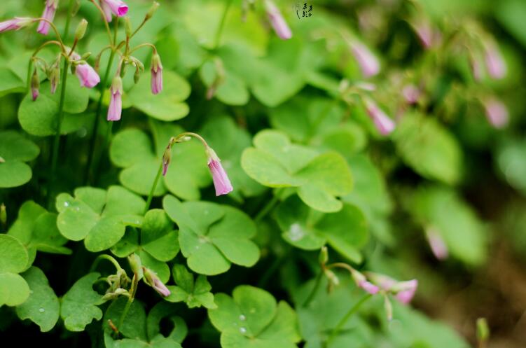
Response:
[[[321,214],[307,207],[297,196],[279,204],[275,212],[282,236],[293,246],[316,250],[328,243],[355,263],[361,262],[359,249],[368,239],[364,214],[352,204],[344,204],[337,213]]]

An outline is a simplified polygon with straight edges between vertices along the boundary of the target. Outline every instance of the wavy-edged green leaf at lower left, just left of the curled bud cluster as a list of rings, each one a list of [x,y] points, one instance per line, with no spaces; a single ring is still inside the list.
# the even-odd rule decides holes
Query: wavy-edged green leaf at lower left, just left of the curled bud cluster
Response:
[[[60,317],[68,330],[83,331],[93,319],[102,318],[102,310],[97,306],[102,305],[104,300],[102,295],[92,288],[99,277],[100,274],[97,272],[86,274],[62,297]]]

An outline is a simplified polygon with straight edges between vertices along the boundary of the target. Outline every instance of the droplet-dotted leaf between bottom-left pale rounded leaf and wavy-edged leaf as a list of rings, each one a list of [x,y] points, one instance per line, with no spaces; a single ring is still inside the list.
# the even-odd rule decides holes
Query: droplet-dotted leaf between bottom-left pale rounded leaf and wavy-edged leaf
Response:
[[[42,332],[51,330],[58,321],[60,303],[49,286],[46,274],[37,267],[31,267],[22,277],[29,284],[31,294],[27,301],[16,307],[16,314],[22,320],[30,319],[36,323]]]

